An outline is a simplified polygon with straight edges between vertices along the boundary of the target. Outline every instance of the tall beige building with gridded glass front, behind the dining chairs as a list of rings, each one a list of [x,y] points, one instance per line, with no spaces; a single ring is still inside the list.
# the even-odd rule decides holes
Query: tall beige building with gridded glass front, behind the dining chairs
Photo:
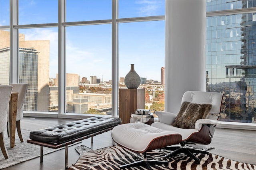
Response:
[[[2,50],[0,78],[2,75],[7,75],[8,78],[3,76],[1,84],[9,84],[9,62],[10,60],[10,32],[0,30],[0,49]],[[7,52],[8,51],[8,52]],[[49,60],[50,60],[50,41],[49,40],[34,40],[25,41],[25,35],[19,34],[19,83],[28,84],[28,92],[25,103],[24,111],[48,111],[49,107]],[[0,60],[2,60],[0,59]],[[33,63],[34,62],[34,63]],[[36,62],[36,63],[35,63]],[[5,64],[4,64],[5,63]],[[35,67],[36,66],[36,67]],[[8,68],[8,69],[7,69]],[[37,69],[37,70],[35,70]],[[29,75],[26,76],[25,75]],[[36,74],[33,75],[32,74]],[[35,82],[32,82],[35,80]],[[30,93],[36,93],[33,99],[29,98]],[[32,94],[31,94],[32,95]]]

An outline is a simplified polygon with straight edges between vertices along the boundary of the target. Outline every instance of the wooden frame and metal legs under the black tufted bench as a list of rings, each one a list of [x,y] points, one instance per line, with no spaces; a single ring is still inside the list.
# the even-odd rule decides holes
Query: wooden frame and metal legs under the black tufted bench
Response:
[[[117,125],[119,125],[119,124],[117,124]],[[53,144],[53,143],[45,143],[45,142],[35,141],[35,140],[32,140],[32,139],[28,139],[27,143],[31,143],[31,144],[40,146],[40,162],[43,162],[43,147],[48,147],[48,148],[52,148],[52,149],[58,149],[58,148],[65,147],[65,170],[66,170],[66,169],[68,169],[68,145],[71,145],[73,143],[82,141],[84,139],[88,139],[90,137],[91,137],[91,142],[93,143],[93,137],[94,136],[99,135],[99,134],[104,133],[104,132],[107,132],[107,131],[110,131],[117,125],[114,125],[112,127],[107,127],[106,129],[102,129],[100,131],[96,131],[94,133],[87,134],[87,135],[84,135],[83,137],[76,138],[76,139],[71,140],[71,141],[66,141],[64,143]],[[114,141],[113,141],[113,145],[114,145]]]

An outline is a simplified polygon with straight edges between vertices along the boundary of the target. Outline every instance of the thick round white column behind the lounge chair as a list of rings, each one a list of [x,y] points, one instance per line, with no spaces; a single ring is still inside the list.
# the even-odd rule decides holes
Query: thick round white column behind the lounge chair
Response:
[[[166,0],[165,111],[178,113],[185,91],[205,91],[205,0]]]

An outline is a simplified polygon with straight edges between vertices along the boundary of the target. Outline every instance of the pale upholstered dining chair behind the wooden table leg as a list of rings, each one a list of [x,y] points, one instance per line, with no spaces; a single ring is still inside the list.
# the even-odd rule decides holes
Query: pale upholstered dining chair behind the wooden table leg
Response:
[[[13,86],[12,92],[18,92],[16,128],[17,128],[18,136],[20,138],[20,142],[23,142],[22,134],[20,130],[20,120],[23,118],[24,102],[25,102],[25,97],[28,89],[28,84],[10,84],[10,86]],[[9,119],[8,119],[8,122],[9,122]],[[8,137],[10,137],[8,129],[9,128],[7,125]]]

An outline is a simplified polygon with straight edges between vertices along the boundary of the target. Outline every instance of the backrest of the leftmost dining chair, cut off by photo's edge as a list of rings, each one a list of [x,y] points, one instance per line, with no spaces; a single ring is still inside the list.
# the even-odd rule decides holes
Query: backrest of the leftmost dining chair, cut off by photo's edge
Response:
[[[6,130],[12,86],[0,86],[0,133]]]

